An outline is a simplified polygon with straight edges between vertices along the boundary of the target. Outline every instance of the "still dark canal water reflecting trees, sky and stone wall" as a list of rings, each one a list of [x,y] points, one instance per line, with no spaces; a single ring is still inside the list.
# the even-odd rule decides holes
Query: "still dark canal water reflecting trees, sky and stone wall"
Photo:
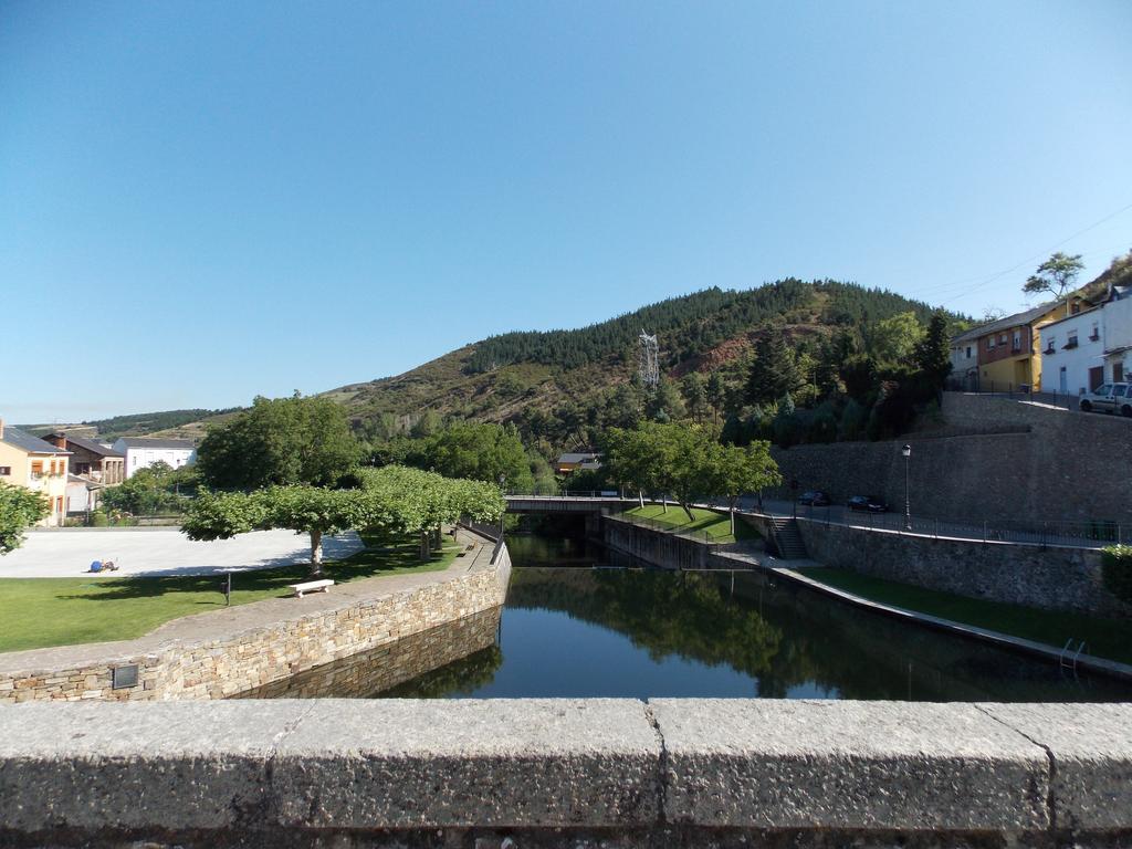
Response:
[[[389,687],[391,658],[420,658],[421,638],[411,640],[381,650],[372,675],[365,671],[370,661],[357,658],[349,675],[316,670],[249,695],[1132,697],[1132,686],[1114,679],[910,626],[761,574],[616,567],[572,539],[514,535],[508,548],[515,568],[501,611],[423,637],[438,660],[457,660]]]

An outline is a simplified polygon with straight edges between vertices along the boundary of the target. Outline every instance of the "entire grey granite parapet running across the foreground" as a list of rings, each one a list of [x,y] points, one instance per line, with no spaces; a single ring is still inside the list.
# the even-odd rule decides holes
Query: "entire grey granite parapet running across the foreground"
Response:
[[[3,829],[1132,830],[1132,704],[25,703],[0,706],[0,843]]]

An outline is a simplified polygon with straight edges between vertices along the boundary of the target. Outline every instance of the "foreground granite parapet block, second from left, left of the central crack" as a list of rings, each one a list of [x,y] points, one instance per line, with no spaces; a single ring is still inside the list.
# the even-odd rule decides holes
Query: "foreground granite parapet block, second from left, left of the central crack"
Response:
[[[320,700],[273,790],[306,827],[644,825],[659,760],[633,700]]]

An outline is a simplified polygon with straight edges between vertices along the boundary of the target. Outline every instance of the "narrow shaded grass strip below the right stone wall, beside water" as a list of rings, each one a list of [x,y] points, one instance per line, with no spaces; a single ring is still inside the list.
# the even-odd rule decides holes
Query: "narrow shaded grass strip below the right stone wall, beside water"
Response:
[[[806,568],[799,569],[798,574],[871,601],[998,631],[1058,650],[1070,637],[1074,641],[1083,640],[1088,643],[1086,652],[1089,654],[1132,663],[1132,621],[969,599],[950,592],[858,575],[848,569]]]

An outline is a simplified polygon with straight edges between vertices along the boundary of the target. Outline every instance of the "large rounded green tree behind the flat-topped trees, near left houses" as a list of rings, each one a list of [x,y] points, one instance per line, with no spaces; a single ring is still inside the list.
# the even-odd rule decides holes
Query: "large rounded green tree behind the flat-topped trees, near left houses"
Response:
[[[331,486],[361,455],[345,408],[329,398],[257,397],[212,428],[197,448],[200,478],[213,489]]]

